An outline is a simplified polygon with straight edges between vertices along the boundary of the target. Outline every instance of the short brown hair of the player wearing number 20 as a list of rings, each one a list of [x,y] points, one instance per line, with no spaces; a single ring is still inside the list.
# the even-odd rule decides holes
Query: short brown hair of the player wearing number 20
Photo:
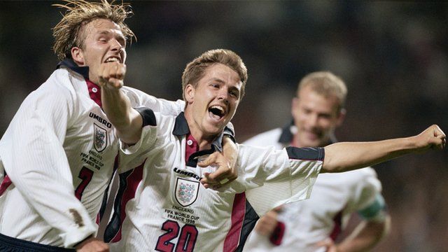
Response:
[[[231,69],[238,73],[239,79],[241,80],[241,90],[239,94],[239,99],[244,96],[244,87],[247,81],[247,69],[244,65],[243,60],[239,55],[231,50],[226,49],[215,49],[208,50],[202,53],[200,57],[193,59],[192,62],[188,63],[182,74],[182,96],[185,99],[185,87],[188,84],[196,87],[199,80],[204,76],[205,69],[214,64],[224,64],[229,66]]]

